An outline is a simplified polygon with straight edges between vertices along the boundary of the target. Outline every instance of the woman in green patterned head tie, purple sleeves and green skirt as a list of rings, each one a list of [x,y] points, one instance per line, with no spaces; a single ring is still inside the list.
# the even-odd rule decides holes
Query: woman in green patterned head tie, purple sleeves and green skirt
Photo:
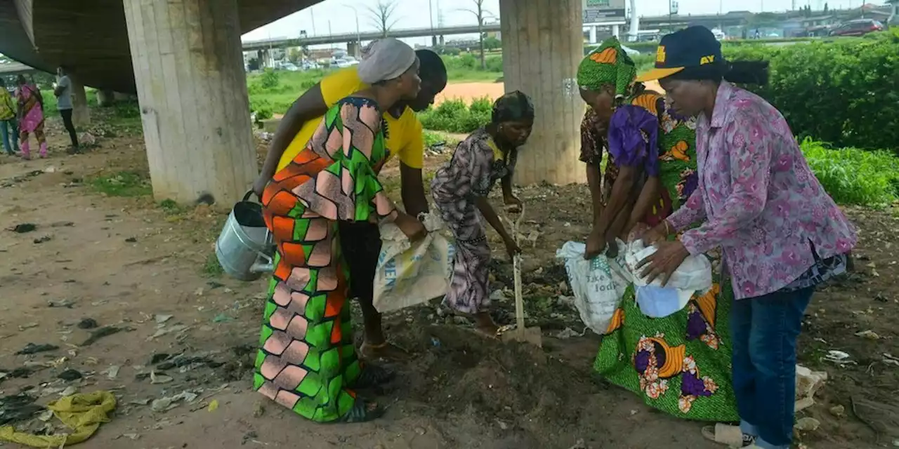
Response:
[[[633,240],[663,223],[698,184],[695,120],[675,117],[661,94],[635,79],[634,62],[614,38],[578,69],[581,96],[590,106],[581,126],[593,203],[587,259],[614,256],[616,239]],[[603,154],[609,159],[601,180]],[[603,336],[597,372],[673,416],[736,420],[729,335],[726,326],[716,326],[727,322],[730,302],[718,302],[725,291],[714,278],[711,290],[697,292],[664,318],[641,313],[634,286],[628,286]]]

